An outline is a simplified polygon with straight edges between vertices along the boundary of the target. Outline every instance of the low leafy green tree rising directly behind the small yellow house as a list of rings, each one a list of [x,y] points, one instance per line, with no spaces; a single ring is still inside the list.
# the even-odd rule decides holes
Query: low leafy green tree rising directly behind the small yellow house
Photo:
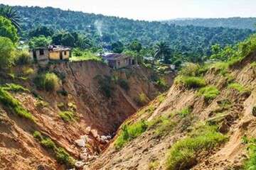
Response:
[[[31,38],[31,40],[28,42],[28,45],[30,48],[36,48],[36,47],[48,47],[51,43],[51,38],[46,38],[45,36],[41,35],[39,37]]]

